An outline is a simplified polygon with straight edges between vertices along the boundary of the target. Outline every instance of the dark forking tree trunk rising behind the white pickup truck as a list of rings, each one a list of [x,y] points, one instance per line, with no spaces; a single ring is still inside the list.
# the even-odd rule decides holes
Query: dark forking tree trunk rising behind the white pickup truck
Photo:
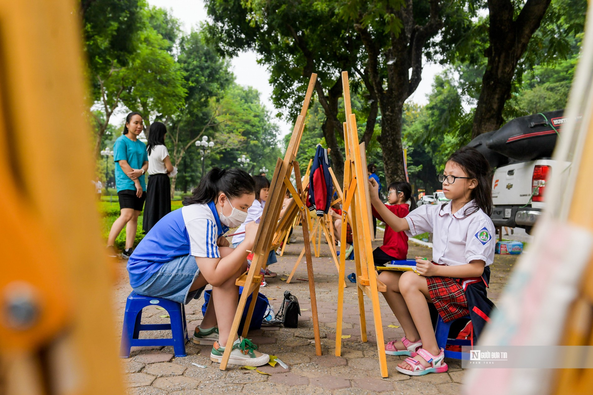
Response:
[[[523,57],[531,36],[540,27],[550,0],[528,0],[517,19],[511,0],[489,0],[490,46],[488,64],[482,78],[482,91],[476,106],[471,138],[499,129],[502,111],[511,95],[515,69]]]

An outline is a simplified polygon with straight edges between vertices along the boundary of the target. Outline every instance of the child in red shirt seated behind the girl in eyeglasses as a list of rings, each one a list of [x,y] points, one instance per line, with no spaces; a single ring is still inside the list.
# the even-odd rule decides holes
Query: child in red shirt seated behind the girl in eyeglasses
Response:
[[[416,201],[412,197],[412,185],[406,181],[396,181],[389,185],[389,193],[385,205],[391,213],[400,218],[416,208]],[[410,200],[410,205],[406,201]],[[410,207],[411,206],[411,207]],[[372,214],[375,218],[383,221],[375,207],[372,207]],[[385,221],[383,221],[385,222]],[[407,235],[404,232],[395,232],[391,227],[385,225],[385,235],[383,236],[383,245],[372,252],[375,266],[383,266],[391,261],[400,261],[407,256]]]

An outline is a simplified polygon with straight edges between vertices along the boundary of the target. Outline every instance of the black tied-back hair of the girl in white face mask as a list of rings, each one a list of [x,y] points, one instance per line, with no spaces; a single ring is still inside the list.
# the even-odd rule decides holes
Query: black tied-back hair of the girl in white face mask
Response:
[[[208,204],[216,201],[220,192],[232,199],[244,194],[254,194],[255,190],[256,183],[246,171],[237,168],[212,168],[202,177],[200,184],[192,191],[192,196],[183,200],[183,205]]]

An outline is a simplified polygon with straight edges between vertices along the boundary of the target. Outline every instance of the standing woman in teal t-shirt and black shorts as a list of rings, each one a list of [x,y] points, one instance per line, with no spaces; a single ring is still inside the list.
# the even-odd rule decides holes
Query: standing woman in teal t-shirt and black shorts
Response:
[[[111,226],[107,237],[107,249],[111,256],[116,256],[113,247],[115,239],[123,227],[126,227],[126,249],[123,258],[132,255],[132,247],[138,229],[138,217],[142,213],[142,206],[146,199],[146,184],[144,174],[148,169],[148,155],[146,145],[138,140],[144,130],[142,116],[129,113],[123,136],[113,144],[113,160],[115,161],[115,185],[119,197],[120,216]]]

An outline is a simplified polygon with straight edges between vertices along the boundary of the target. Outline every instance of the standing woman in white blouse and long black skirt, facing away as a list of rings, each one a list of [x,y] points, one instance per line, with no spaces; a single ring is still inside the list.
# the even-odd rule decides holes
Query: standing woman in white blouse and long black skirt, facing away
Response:
[[[152,123],[148,134],[148,187],[142,229],[145,233],[171,212],[171,182],[169,176],[176,172],[171,165],[165,146],[167,127],[162,122]]]

